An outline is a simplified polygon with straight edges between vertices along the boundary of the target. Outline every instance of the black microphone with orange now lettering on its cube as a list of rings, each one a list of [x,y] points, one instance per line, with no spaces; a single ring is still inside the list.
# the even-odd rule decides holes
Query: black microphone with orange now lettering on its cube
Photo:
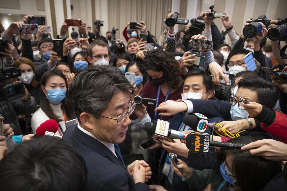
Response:
[[[214,147],[228,147],[240,149],[245,144],[240,143],[229,143],[229,142],[218,142],[210,141],[210,135],[207,133],[194,132],[187,135],[186,147],[193,153],[209,153],[209,146]]]

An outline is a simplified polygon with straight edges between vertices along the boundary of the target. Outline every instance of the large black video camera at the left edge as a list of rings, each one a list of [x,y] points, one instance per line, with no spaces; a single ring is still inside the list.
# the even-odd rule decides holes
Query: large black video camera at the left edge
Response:
[[[3,82],[18,76],[21,76],[20,68],[4,67],[0,69],[0,100],[13,101],[25,96],[25,87],[22,82],[13,84],[4,84]]]

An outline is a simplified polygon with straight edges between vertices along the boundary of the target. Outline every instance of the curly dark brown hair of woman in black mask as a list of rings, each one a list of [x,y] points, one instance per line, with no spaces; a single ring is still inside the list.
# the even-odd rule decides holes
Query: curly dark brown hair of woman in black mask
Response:
[[[181,71],[178,66],[178,61],[174,59],[174,56],[167,51],[155,49],[146,52],[146,56],[143,61],[144,70],[163,71],[163,78],[165,82],[173,89],[178,88],[181,85]],[[152,81],[150,76],[148,80]]]

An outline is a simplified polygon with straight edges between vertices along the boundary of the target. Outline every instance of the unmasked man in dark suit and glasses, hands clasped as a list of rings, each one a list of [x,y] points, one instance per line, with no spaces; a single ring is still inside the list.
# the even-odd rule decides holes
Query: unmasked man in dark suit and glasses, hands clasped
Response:
[[[144,161],[124,166],[119,147],[126,137],[135,104],[134,88],[115,67],[92,65],[75,76],[70,101],[79,124],[68,128],[63,140],[83,156],[89,190],[149,190],[151,175]]]

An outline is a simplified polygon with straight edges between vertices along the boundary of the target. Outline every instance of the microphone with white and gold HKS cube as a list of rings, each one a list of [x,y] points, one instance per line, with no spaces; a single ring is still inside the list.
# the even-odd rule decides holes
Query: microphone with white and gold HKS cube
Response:
[[[169,129],[170,122],[158,119],[156,124],[152,122],[145,122],[143,129],[149,133],[155,133],[152,138],[159,141],[166,140],[166,138],[178,138],[185,140],[187,134],[181,133],[180,131]],[[169,141],[169,140],[167,140]]]

